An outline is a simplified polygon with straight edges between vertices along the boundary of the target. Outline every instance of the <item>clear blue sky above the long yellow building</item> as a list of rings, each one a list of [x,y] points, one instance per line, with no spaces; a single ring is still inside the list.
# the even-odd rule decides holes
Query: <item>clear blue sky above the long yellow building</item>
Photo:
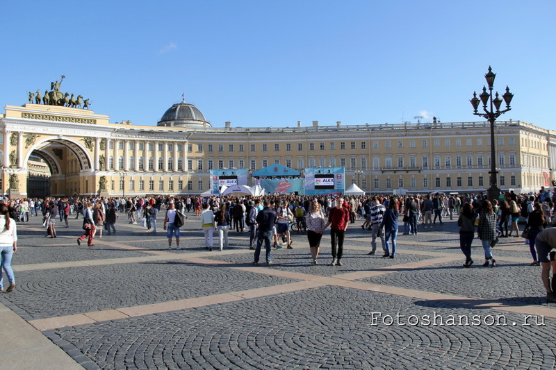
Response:
[[[0,104],[82,94],[111,121],[155,125],[194,103],[213,126],[482,120],[489,65],[514,93],[500,119],[556,129],[556,1],[3,2]]]

